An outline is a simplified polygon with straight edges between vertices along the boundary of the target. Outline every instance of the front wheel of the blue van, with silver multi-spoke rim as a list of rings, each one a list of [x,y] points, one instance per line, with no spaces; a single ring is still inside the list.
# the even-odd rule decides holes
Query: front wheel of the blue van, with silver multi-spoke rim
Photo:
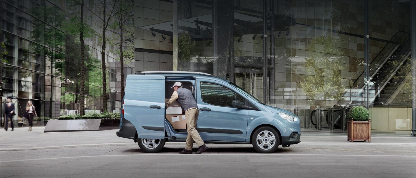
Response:
[[[272,138],[271,141],[270,138]],[[279,147],[280,137],[276,129],[270,126],[262,126],[254,131],[251,144],[259,153],[273,153]]]

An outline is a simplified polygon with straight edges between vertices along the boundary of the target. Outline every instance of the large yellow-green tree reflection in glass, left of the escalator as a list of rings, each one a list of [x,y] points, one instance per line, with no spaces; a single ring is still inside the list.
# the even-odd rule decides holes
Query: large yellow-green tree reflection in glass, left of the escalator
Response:
[[[344,100],[342,96],[346,87],[342,86],[342,82],[347,79],[341,78],[342,64],[339,61],[344,53],[336,47],[341,43],[337,38],[321,36],[311,40],[307,46],[310,55],[306,58],[306,75],[300,85],[310,100]]]

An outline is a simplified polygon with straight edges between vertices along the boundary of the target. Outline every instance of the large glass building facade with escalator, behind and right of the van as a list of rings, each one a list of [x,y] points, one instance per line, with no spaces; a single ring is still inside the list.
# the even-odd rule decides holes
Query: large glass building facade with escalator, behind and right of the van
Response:
[[[371,129],[409,131],[416,115],[415,3],[139,0],[136,11],[145,15],[136,14],[141,22],[135,26],[145,36],[137,39],[144,48],[146,34],[173,39],[174,70],[228,79],[263,103],[294,112],[302,127],[314,128],[320,108],[323,116],[333,109],[332,129],[340,129],[338,111],[365,106]],[[152,13],[173,19],[152,21],[146,17]],[[322,125],[330,129],[325,119]]]

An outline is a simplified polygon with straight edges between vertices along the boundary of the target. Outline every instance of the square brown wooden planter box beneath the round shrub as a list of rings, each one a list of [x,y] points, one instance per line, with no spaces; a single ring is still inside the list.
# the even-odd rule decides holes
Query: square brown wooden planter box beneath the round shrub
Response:
[[[371,142],[371,119],[369,121],[348,121],[348,141]]]

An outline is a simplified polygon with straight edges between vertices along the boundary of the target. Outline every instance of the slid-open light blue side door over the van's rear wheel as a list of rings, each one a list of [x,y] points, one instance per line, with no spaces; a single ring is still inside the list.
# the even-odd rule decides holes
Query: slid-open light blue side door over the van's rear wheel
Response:
[[[124,119],[129,120],[138,138],[164,139],[165,77],[128,75],[124,96]]]

